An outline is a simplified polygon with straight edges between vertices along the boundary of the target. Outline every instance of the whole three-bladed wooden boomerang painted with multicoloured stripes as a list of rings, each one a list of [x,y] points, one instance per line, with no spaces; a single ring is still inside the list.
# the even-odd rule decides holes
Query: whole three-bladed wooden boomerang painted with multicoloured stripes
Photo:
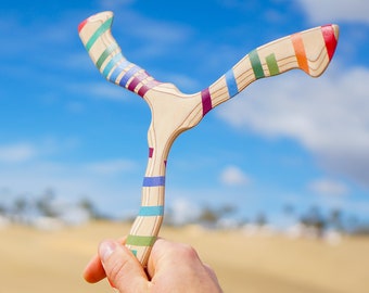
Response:
[[[78,31],[100,73],[109,81],[142,97],[151,110],[149,161],[141,207],[126,242],[145,266],[163,221],[166,162],[174,140],[198,125],[212,109],[230,100],[256,79],[293,68],[301,68],[313,77],[320,76],[334,54],[339,27],[315,27],[262,46],[208,88],[184,94],[175,85],[160,82],[127,61],[111,34],[112,22],[112,12],[101,12],[80,23]]]

